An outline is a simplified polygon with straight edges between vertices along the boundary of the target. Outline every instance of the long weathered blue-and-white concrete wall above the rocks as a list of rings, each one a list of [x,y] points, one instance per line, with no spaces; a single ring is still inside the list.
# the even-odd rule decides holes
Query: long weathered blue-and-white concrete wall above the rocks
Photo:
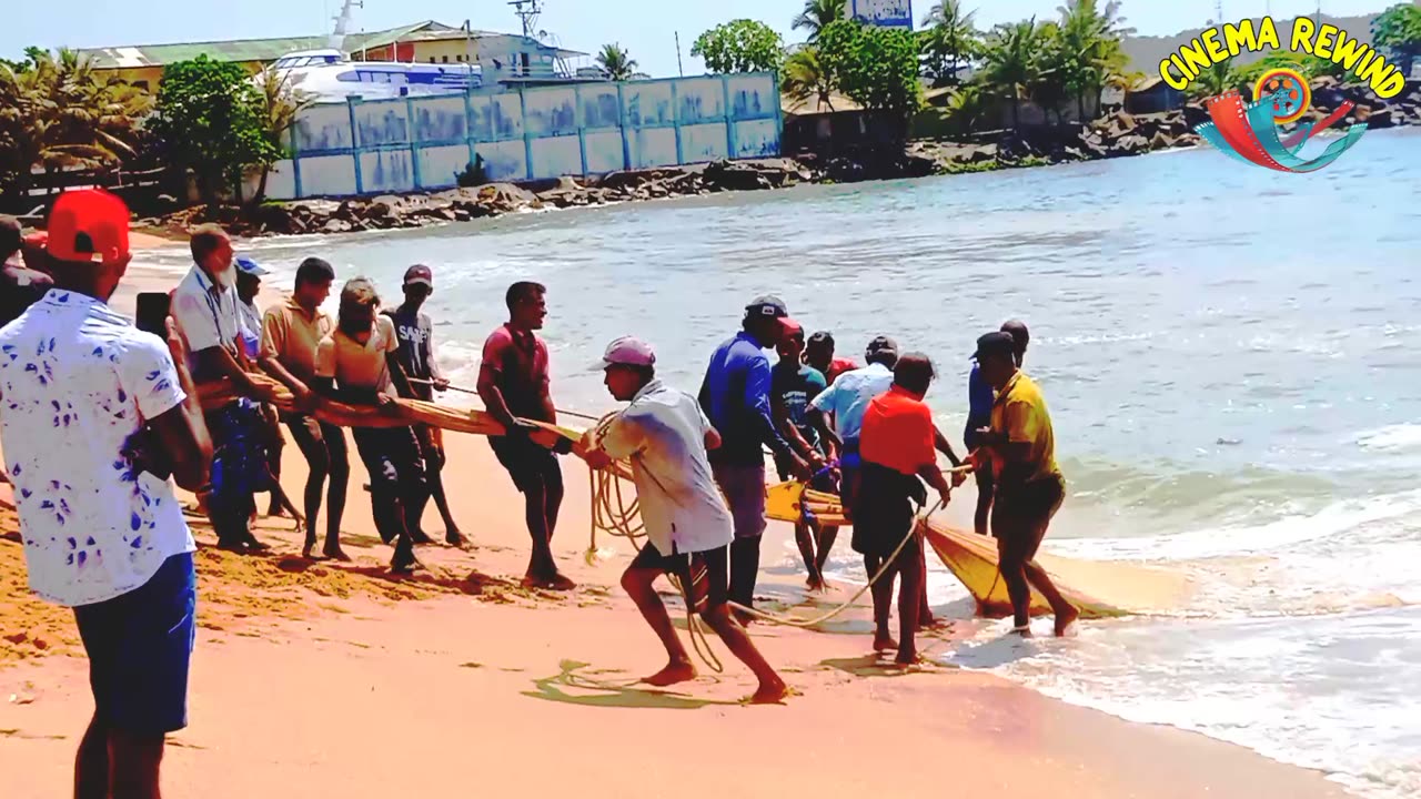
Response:
[[[490,181],[767,158],[780,152],[776,75],[590,82],[306,109],[269,196],[448,189],[479,155]]]

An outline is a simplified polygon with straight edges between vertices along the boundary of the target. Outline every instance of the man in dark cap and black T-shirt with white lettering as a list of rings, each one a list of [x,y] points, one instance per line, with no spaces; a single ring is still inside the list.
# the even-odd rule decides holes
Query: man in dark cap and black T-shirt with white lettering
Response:
[[[435,274],[428,266],[415,264],[405,270],[405,301],[385,311],[395,323],[395,336],[399,337],[398,360],[405,377],[409,378],[409,390],[415,400],[426,402],[433,400],[435,391],[449,388],[449,380],[439,370],[435,358],[435,326],[425,314],[425,300],[435,291]],[[443,481],[439,473],[443,471],[443,431],[431,425],[415,425],[415,435],[419,438],[419,451],[425,458],[425,479],[429,483],[431,496],[445,523],[445,543],[462,546],[463,533],[449,512],[449,499],[445,496]]]

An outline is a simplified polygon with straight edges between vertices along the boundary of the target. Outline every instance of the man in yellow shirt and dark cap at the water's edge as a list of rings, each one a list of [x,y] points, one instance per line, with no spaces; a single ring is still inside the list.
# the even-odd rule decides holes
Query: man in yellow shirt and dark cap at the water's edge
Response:
[[[982,377],[996,391],[990,427],[978,429],[989,461],[978,461],[978,468],[995,471],[992,535],[996,536],[1002,581],[1012,597],[1016,623],[1012,631],[1030,637],[1034,587],[1056,614],[1056,634],[1064,636],[1080,611],[1066,601],[1046,570],[1032,560],[1066,498],[1066,481],[1056,466],[1056,436],[1046,400],[1036,382],[1017,368],[1017,343],[1010,333],[988,333],[978,338],[973,357]]]

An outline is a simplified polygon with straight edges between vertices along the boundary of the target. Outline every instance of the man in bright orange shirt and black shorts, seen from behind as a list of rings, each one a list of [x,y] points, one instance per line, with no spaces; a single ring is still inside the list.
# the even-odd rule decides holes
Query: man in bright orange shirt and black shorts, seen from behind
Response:
[[[892,387],[875,397],[864,411],[858,444],[863,473],[854,509],[853,546],[854,552],[864,556],[864,570],[870,579],[880,569],[887,569],[872,587],[874,648],[897,648],[895,660],[902,665],[918,660],[914,636],[925,581],[922,540],[914,530],[914,505],[925,505],[928,495],[918,478],[938,490],[944,506],[952,492],[938,471],[936,428],[932,411],[922,402],[934,377],[932,361],[926,355],[909,353],[899,358],[894,367]],[[888,607],[894,580],[899,576],[901,643],[895,643],[888,634]]]

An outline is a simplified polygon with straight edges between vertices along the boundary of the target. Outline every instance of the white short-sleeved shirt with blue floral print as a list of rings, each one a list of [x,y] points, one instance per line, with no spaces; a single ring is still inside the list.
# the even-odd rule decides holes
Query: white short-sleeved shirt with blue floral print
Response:
[[[36,594],[105,601],[196,549],[172,486],[121,454],[185,398],[168,345],[92,297],[51,289],[0,328],[0,446]]]

